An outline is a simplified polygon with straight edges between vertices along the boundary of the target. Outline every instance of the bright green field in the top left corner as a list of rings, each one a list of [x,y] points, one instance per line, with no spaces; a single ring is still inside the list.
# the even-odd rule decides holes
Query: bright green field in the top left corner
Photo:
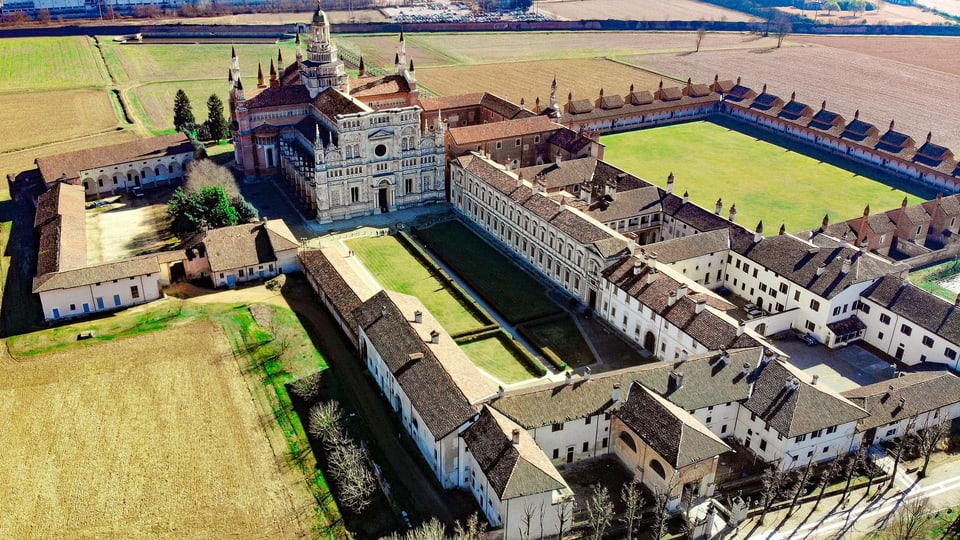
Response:
[[[84,36],[2,39],[0,92],[107,84],[98,54]]]

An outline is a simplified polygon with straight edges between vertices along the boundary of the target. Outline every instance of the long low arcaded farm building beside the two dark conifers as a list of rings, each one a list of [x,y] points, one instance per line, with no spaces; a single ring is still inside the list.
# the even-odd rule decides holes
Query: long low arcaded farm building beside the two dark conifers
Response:
[[[151,137],[37,158],[44,183],[68,182],[83,186],[87,198],[149,189],[183,181],[195,148],[182,134]]]

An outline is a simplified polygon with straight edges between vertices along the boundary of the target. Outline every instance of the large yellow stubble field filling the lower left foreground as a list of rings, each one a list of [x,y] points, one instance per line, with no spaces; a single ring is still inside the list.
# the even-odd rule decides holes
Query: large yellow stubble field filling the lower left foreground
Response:
[[[212,323],[5,357],[0,373],[0,536],[306,536],[312,500]]]

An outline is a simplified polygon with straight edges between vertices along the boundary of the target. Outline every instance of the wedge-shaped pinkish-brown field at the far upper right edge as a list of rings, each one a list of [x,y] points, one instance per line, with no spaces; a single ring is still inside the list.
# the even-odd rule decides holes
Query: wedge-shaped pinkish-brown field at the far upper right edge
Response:
[[[960,76],[960,37],[796,35],[790,39]]]

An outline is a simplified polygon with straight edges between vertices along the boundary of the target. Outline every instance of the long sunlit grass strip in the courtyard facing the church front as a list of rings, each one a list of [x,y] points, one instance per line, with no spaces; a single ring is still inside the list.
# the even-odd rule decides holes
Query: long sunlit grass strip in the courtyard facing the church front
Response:
[[[359,238],[348,245],[385,289],[419,298],[448,333],[483,326],[395,237]]]

